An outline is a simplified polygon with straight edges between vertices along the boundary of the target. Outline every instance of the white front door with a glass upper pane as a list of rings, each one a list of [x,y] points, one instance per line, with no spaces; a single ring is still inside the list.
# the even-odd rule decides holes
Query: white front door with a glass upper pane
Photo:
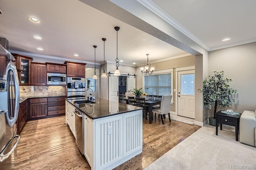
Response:
[[[195,118],[195,70],[178,71],[178,115]]]

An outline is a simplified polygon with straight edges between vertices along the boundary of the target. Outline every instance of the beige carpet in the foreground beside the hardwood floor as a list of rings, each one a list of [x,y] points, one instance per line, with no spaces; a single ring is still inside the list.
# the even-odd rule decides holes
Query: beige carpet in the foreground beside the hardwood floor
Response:
[[[220,127],[219,127],[220,128]],[[201,127],[145,170],[256,169],[256,148],[236,141],[234,127]]]

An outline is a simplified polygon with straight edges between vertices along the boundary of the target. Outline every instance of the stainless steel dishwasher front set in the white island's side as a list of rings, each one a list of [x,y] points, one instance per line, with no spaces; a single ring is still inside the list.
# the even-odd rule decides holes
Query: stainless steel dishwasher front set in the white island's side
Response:
[[[84,114],[76,110],[75,113],[75,126],[76,126],[76,146],[79,151],[84,155]]]

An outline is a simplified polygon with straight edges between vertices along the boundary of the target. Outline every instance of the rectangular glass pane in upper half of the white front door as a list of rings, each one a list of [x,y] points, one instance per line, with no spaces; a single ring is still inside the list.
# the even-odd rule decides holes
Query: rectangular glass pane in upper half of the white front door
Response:
[[[181,74],[180,75],[180,94],[194,95],[194,74]]]

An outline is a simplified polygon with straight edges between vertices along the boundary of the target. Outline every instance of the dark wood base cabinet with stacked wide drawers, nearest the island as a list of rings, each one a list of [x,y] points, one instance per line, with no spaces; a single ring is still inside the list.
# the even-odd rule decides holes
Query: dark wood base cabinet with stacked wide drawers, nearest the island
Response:
[[[65,113],[65,97],[48,98],[48,115]]]

